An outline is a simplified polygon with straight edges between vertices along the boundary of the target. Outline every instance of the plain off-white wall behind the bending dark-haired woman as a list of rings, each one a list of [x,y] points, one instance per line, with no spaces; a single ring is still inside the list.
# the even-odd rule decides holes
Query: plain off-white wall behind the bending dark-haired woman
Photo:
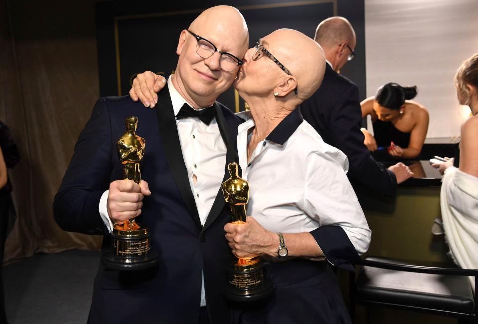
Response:
[[[430,112],[428,138],[460,134],[468,113],[454,86],[478,52],[478,0],[365,0],[367,96],[387,82],[418,86]]]

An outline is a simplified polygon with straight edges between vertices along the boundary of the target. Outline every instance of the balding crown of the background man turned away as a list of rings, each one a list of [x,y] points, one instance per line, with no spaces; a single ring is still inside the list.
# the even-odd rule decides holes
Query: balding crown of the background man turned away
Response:
[[[355,44],[355,31],[346,18],[327,18],[317,26],[315,41],[327,51],[327,49],[342,42]]]

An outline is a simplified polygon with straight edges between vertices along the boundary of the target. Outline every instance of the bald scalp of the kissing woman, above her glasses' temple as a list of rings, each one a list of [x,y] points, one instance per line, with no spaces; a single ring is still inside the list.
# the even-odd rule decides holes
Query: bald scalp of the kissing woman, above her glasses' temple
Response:
[[[270,51],[297,78],[298,98],[302,102],[320,86],[325,71],[322,48],[313,39],[293,29],[279,29],[263,38]]]

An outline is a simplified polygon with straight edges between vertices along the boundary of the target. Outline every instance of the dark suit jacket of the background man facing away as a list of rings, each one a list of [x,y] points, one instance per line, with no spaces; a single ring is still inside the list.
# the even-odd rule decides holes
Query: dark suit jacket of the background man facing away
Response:
[[[326,64],[321,86],[300,109],[324,142],[349,158],[347,175],[352,184],[389,196],[395,194],[395,174],[376,162],[363,144],[359,88],[354,83]]]

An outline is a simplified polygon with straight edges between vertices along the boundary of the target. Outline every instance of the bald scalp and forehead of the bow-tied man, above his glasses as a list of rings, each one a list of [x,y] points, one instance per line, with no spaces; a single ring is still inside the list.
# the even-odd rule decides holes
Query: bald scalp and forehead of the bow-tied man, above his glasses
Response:
[[[218,5],[204,10],[194,19],[189,30],[195,30],[197,34],[203,30],[214,31],[231,37],[240,47],[247,49],[249,46],[249,30],[245,19],[238,9],[229,5]]]

